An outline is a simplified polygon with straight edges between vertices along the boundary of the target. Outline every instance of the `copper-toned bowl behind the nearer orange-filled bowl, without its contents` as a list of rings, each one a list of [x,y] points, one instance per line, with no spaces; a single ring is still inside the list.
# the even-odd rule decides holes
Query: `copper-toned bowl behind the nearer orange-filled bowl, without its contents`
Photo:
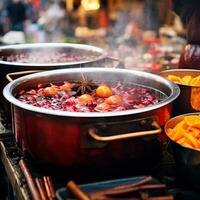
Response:
[[[172,69],[162,71],[160,73],[162,77],[167,78],[168,75],[175,75],[180,78],[183,76],[197,77],[200,75],[200,70],[192,69]],[[174,115],[199,112],[200,111],[200,86],[190,86],[184,84],[177,84],[180,87],[180,95],[173,102]]]

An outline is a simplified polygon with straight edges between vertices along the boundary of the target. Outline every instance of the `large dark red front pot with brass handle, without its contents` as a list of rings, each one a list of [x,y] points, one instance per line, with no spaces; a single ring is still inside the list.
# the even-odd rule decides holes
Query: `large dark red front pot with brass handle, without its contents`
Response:
[[[159,103],[140,109],[106,113],[47,110],[15,98],[15,94],[38,83],[80,80],[136,83],[151,88]],[[74,68],[27,75],[3,90],[11,102],[17,142],[34,159],[57,165],[109,165],[136,159],[154,160],[161,154],[159,133],[170,118],[172,101],[179,88],[154,74],[112,68]],[[144,160],[143,160],[144,161]],[[146,161],[146,160],[145,160]]]

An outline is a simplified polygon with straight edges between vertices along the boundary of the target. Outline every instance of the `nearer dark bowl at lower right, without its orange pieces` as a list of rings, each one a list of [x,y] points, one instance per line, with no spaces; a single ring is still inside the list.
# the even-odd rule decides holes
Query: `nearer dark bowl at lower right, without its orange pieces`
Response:
[[[200,115],[200,113],[189,113],[179,115],[170,119],[164,127],[169,139],[169,144],[176,163],[176,175],[178,180],[192,188],[200,188],[200,150],[189,148],[178,144],[169,136],[169,129],[174,128],[184,119],[184,116]]]

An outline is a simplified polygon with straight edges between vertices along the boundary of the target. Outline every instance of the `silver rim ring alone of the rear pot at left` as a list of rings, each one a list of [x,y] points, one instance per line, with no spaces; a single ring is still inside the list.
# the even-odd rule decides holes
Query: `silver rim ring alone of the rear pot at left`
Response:
[[[10,66],[35,66],[35,67],[55,67],[55,66],[70,66],[70,65],[81,65],[81,64],[87,64],[90,62],[96,62],[98,60],[101,60],[103,58],[107,57],[107,53],[100,47],[92,46],[92,45],[86,45],[86,44],[76,44],[76,43],[26,43],[26,44],[15,44],[15,45],[8,45],[0,47],[0,54],[4,50],[22,50],[22,49],[32,49],[35,48],[39,49],[45,49],[45,48],[74,48],[74,49],[81,49],[81,50],[87,50],[87,51],[94,51],[96,53],[99,53],[100,55],[97,56],[97,58],[90,59],[90,60],[80,60],[80,61],[74,61],[74,62],[65,62],[65,63],[20,63],[20,62],[9,62],[9,61],[2,61],[0,60],[0,64],[10,65]]]

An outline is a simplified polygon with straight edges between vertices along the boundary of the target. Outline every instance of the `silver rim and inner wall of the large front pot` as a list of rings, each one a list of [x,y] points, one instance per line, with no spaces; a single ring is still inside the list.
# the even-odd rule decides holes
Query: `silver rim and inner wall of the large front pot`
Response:
[[[64,112],[64,111],[54,111],[47,110],[43,108],[34,107],[15,98],[17,91],[29,87],[36,87],[38,83],[49,83],[49,82],[62,82],[75,81],[82,79],[84,76],[88,80],[95,80],[101,82],[121,82],[121,83],[133,83],[138,86],[143,86],[150,88],[154,93],[159,95],[161,101],[155,105],[147,106],[140,109],[132,109],[119,112],[106,112],[106,113],[77,113],[77,112]],[[51,70],[46,72],[39,72],[31,75],[27,75],[14,80],[9,83],[4,88],[4,96],[8,101],[17,105],[21,108],[39,112],[44,114],[56,115],[56,116],[72,116],[72,117],[117,117],[123,115],[137,115],[140,113],[149,112],[163,107],[172,101],[174,101],[179,95],[179,87],[176,86],[171,81],[164,79],[155,74],[135,71],[135,70],[125,70],[125,69],[112,69],[112,68],[73,68],[73,69],[61,69],[61,70]]]

